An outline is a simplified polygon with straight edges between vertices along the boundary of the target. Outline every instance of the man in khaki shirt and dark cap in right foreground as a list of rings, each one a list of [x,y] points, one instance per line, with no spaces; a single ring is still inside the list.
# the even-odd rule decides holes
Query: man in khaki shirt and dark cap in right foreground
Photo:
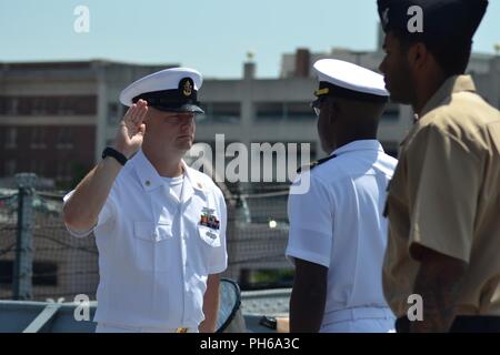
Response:
[[[419,116],[386,206],[383,292],[397,331],[500,332],[500,113],[463,75],[488,1],[378,6],[386,87]],[[410,31],[413,6],[420,32]]]

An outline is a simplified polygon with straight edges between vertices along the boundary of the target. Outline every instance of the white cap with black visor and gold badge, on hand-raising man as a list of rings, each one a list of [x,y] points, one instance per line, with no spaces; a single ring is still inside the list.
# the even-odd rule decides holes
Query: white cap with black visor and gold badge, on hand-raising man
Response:
[[[132,82],[120,93],[120,102],[130,106],[142,99],[161,111],[203,113],[197,101],[202,82],[194,69],[166,69]]]

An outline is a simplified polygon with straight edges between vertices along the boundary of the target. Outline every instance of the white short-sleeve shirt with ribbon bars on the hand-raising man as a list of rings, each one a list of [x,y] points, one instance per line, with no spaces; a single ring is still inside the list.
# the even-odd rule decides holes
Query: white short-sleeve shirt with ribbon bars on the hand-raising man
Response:
[[[184,164],[182,180],[180,190],[170,186],[142,151],[119,173],[93,229],[100,274],[94,322],[197,328],[203,321],[207,277],[227,267],[227,209],[206,174]],[[203,214],[219,225],[200,223]]]

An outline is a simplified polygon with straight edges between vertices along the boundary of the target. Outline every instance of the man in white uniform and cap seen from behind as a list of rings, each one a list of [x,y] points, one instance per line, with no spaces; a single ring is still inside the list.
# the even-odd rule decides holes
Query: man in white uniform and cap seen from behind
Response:
[[[291,332],[390,332],[382,294],[387,245],[382,216],[397,160],[377,140],[388,101],[383,78],[332,59],[314,63],[322,149],[330,155],[302,170],[310,187],[290,190],[287,257],[294,262]]]

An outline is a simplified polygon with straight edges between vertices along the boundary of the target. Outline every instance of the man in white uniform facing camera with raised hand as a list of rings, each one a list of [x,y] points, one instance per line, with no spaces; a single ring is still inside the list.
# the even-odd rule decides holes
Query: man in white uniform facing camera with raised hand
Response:
[[[227,267],[227,210],[212,180],[186,165],[199,72],[173,68],[120,94],[112,148],[64,197],[69,231],[99,250],[97,332],[213,332]]]

